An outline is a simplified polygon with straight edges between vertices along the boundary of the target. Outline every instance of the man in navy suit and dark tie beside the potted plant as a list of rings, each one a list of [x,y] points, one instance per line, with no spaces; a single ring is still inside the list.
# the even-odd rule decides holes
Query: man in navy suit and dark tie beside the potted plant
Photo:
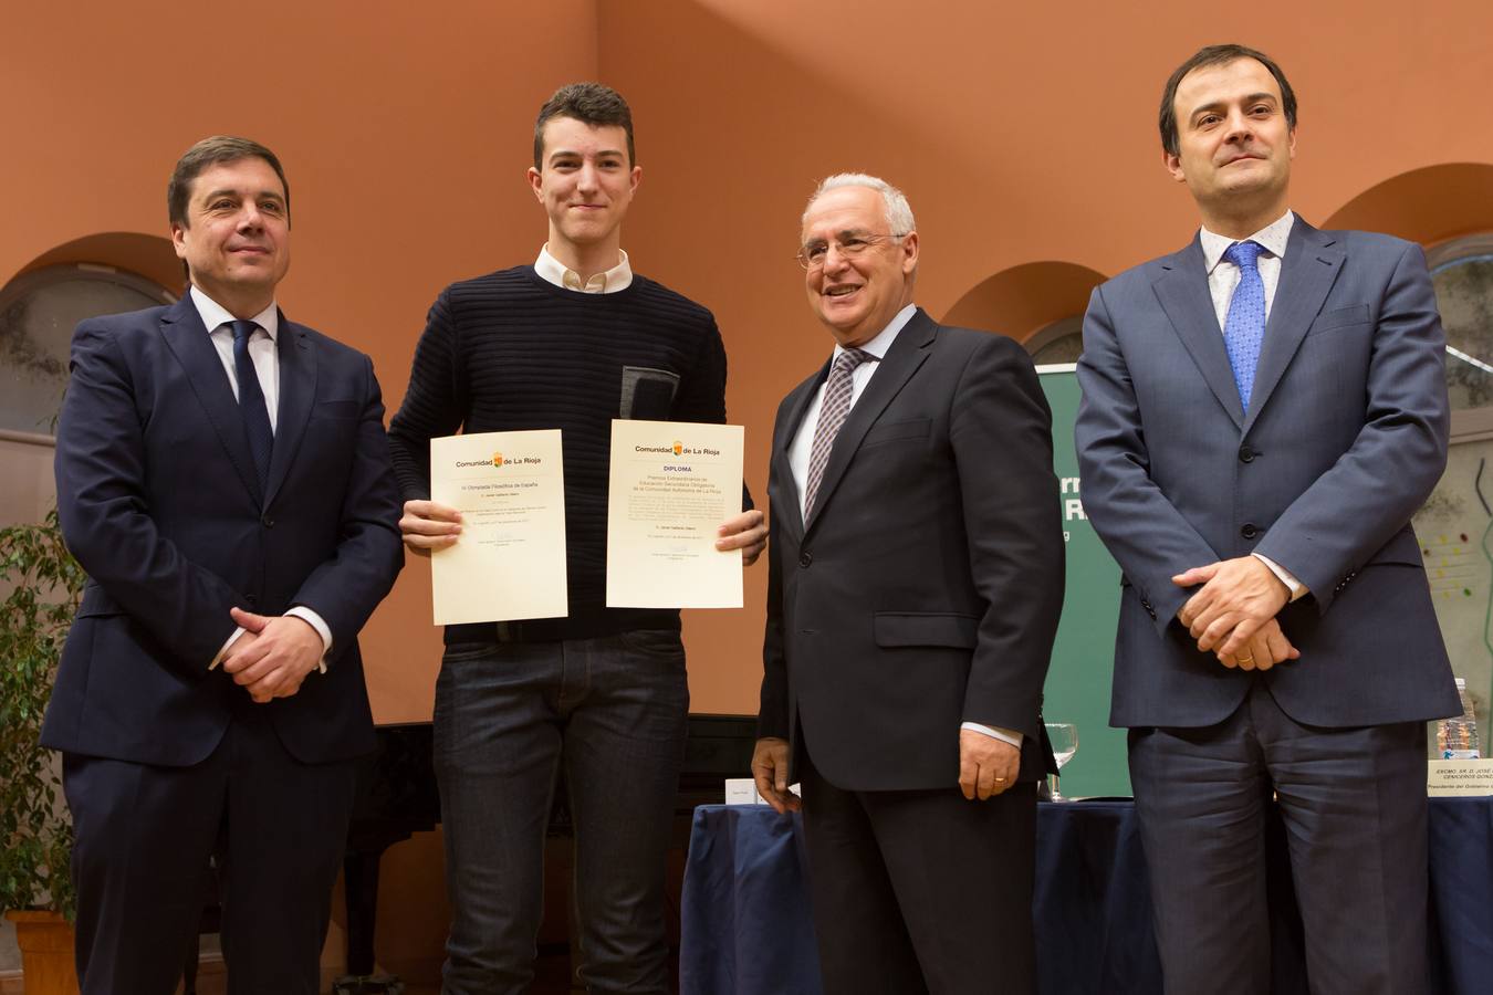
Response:
[[[179,303],[84,321],[57,433],[88,571],[63,750],[85,994],[167,995],[219,862],[228,991],[320,991],[373,728],[357,634],[403,562],[369,358],[275,306],[273,152],[199,142],[167,191]],[[320,673],[315,673],[320,671]]]

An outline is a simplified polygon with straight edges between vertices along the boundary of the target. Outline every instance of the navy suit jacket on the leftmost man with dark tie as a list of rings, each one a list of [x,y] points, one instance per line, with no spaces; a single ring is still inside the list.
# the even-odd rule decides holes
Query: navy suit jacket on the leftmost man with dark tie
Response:
[[[208,670],[228,609],[303,604],[327,673],[263,707],[306,762],[372,749],[357,634],[403,565],[384,406],[366,355],[281,316],[260,494],[242,415],[190,295],[79,324],[57,431],[63,534],[90,582],[46,746],[143,764],[206,758],[246,692]]]

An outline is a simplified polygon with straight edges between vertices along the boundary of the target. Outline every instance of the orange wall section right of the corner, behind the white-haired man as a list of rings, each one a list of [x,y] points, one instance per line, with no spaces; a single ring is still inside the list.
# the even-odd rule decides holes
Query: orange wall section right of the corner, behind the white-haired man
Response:
[[[994,274],[1054,263],[1017,280],[1029,300],[1011,280],[987,288],[999,292],[981,324],[1024,337],[1087,300],[1075,271],[1114,274],[1190,237],[1156,110],[1202,45],[1244,42],[1285,67],[1300,100],[1293,206],[1309,221],[1408,170],[1493,163],[1493,7],[1468,0],[1262,1],[1247,16],[1178,0],[602,0],[599,15],[602,78],[640,127],[627,243],[642,270],[715,310],[755,494],[778,400],[830,348],[793,261],[827,173],[879,173],[908,194],[918,303],[935,316]],[[1439,182],[1391,183],[1354,222],[1429,218],[1402,231],[1427,240],[1493,227],[1493,189],[1477,191],[1469,204]],[[696,709],[755,709],[763,573],[746,612],[688,622]]]

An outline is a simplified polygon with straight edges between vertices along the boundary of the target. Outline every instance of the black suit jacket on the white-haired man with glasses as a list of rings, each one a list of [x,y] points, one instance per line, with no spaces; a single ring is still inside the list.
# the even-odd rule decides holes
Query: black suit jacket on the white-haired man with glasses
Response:
[[[829,364],[784,398],[760,735],[808,744],[848,791],[959,783],[959,726],[1042,732],[1063,601],[1051,415],[1003,336],[918,310],[845,419],[808,524],[788,448]]]

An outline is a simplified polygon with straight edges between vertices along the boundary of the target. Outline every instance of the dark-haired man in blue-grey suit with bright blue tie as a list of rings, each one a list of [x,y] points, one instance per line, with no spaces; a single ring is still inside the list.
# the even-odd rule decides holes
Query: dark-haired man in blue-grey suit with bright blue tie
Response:
[[[1269,989],[1274,792],[1312,991],[1420,992],[1424,721],[1459,712],[1409,525],[1447,456],[1424,257],[1288,210],[1260,52],[1197,52],[1160,125],[1202,231],[1094,291],[1076,440],[1166,989]]]

